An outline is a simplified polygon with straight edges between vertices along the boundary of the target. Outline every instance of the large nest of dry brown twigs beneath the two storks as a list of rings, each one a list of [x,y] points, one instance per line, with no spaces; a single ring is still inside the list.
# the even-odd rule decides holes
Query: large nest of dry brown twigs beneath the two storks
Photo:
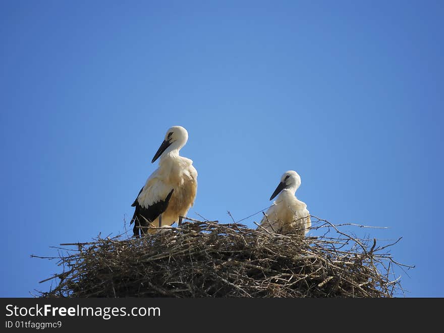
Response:
[[[241,224],[185,222],[141,238],[62,244],[57,285],[41,297],[393,297],[393,244],[358,239],[325,220],[319,237]],[[395,242],[396,243],[396,242]],[[394,244],[395,244],[394,243]],[[46,279],[46,280],[49,280]],[[46,281],[45,280],[45,281]]]

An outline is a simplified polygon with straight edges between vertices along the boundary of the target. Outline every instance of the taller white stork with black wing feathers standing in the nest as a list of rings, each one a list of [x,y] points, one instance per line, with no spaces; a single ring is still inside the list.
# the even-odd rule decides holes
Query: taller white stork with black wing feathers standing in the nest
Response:
[[[179,222],[179,216],[185,216],[193,206],[197,171],[192,160],[179,155],[187,140],[188,132],[182,126],[173,126],[165,134],[151,161],[154,163],[160,157],[159,167],[148,177],[132,204],[136,209],[130,224],[134,222],[135,236],[145,233],[148,226],[168,227]],[[147,231],[154,233],[155,229]]]

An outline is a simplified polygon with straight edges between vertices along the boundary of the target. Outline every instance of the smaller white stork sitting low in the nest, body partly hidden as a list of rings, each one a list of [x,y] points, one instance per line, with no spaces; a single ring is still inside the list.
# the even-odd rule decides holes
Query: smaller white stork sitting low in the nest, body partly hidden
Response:
[[[295,196],[296,190],[301,185],[301,177],[296,171],[290,170],[281,177],[281,182],[270,197],[278,199],[267,210],[260,225],[270,232],[298,233],[302,236],[308,232],[311,226],[310,213],[307,205]],[[258,227],[258,229],[262,229]]]

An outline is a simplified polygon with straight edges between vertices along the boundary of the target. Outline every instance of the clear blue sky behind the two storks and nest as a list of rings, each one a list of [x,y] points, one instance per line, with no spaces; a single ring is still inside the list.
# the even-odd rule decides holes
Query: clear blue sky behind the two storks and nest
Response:
[[[190,217],[266,208],[294,169],[311,214],[391,226],[354,231],[403,236],[407,295],[444,296],[443,22],[440,1],[2,1],[0,296],[48,288],[31,254],[122,231],[172,125]]]

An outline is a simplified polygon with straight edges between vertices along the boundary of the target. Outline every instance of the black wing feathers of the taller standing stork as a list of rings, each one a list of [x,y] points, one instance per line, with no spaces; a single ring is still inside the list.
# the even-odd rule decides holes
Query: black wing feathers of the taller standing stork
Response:
[[[142,189],[143,189],[143,187],[142,187]],[[139,202],[137,201],[137,198],[139,197],[140,192],[142,192],[142,190],[140,190],[139,195],[137,196],[134,203],[131,205],[133,207],[136,207],[136,209],[134,210],[133,218],[131,219],[131,222],[130,222],[130,224],[134,222],[133,232],[134,232],[135,236],[139,236],[139,234],[145,233],[145,231],[142,228],[140,228],[141,226],[142,227],[148,226],[145,219],[148,222],[152,222],[160,214],[162,214],[165,210],[167,210],[167,207],[170,202],[173,191],[174,191],[174,188],[171,190],[171,192],[168,194],[167,198],[165,198],[164,200],[160,200],[156,203],[153,203],[151,206],[144,208],[144,207],[140,206]]]

